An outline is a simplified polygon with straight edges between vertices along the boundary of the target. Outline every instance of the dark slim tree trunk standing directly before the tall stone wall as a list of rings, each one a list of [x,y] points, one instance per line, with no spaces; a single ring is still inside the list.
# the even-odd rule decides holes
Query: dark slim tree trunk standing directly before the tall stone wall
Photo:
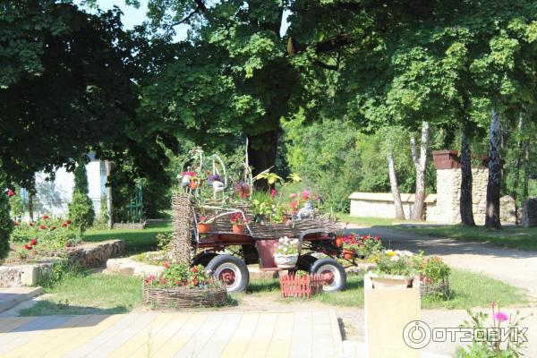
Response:
[[[472,149],[465,130],[461,130],[461,196],[460,212],[461,221],[466,226],[475,226],[473,220],[473,200],[472,200]]]

